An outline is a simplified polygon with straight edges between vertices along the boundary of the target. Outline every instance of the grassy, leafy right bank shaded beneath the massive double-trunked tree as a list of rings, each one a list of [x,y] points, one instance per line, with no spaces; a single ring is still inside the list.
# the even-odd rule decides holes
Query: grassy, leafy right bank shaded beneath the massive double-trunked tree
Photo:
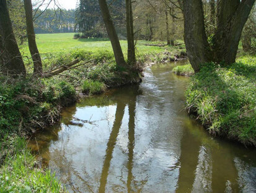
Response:
[[[255,77],[255,56],[229,67],[204,64],[187,88],[187,107],[211,133],[256,145]]]

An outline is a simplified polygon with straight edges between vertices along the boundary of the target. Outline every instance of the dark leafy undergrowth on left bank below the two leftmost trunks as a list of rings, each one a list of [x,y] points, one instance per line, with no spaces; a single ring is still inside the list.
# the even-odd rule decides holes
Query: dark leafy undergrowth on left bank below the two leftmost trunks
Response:
[[[11,81],[11,80],[10,80]],[[49,80],[48,80],[49,81]],[[12,132],[28,132],[59,118],[59,106],[76,100],[76,90],[68,82],[20,80],[0,81],[0,138]]]

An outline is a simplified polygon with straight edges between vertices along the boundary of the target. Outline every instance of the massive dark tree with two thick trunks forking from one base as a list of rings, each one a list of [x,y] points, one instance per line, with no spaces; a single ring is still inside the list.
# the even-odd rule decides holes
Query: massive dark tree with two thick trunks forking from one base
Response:
[[[218,0],[217,25],[210,44],[206,36],[202,1],[183,1],[185,44],[195,72],[200,70],[203,62],[235,62],[242,29],[254,2],[255,0]]]

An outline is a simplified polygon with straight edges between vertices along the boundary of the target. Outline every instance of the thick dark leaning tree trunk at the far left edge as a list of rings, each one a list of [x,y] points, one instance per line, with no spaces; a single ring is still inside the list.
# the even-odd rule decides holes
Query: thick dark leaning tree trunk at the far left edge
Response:
[[[8,75],[22,75],[26,70],[12,30],[6,0],[0,0],[0,57],[1,71]]]

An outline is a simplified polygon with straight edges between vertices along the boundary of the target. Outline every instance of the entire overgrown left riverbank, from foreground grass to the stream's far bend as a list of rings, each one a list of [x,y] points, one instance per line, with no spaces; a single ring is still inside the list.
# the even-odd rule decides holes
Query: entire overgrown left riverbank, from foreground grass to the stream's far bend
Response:
[[[180,53],[179,48],[170,49]],[[45,186],[47,191],[64,191],[54,174],[51,175],[48,169],[45,171],[38,169],[24,138],[60,120],[61,109],[75,103],[81,93],[94,95],[104,92],[107,88],[139,82],[140,74],[147,61],[169,61],[166,55],[171,56],[173,53],[163,50],[165,50],[164,53],[137,54],[138,65],[133,68],[135,73],[127,73],[125,69],[118,68],[111,51],[74,49],[64,54],[48,54],[43,58],[45,72],[79,59],[80,62],[76,66],[60,75],[49,79],[35,79],[30,75],[32,62],[27,61],[29,75],[26,80],[14,81],[1,77],[1,190],[36,191],[42,188],[43,184],[49,184],[48,181],[52,181],[49,186]],[[31,178],[31,175],[37,178]],[[10,176],[17,176],[17,178]]]

